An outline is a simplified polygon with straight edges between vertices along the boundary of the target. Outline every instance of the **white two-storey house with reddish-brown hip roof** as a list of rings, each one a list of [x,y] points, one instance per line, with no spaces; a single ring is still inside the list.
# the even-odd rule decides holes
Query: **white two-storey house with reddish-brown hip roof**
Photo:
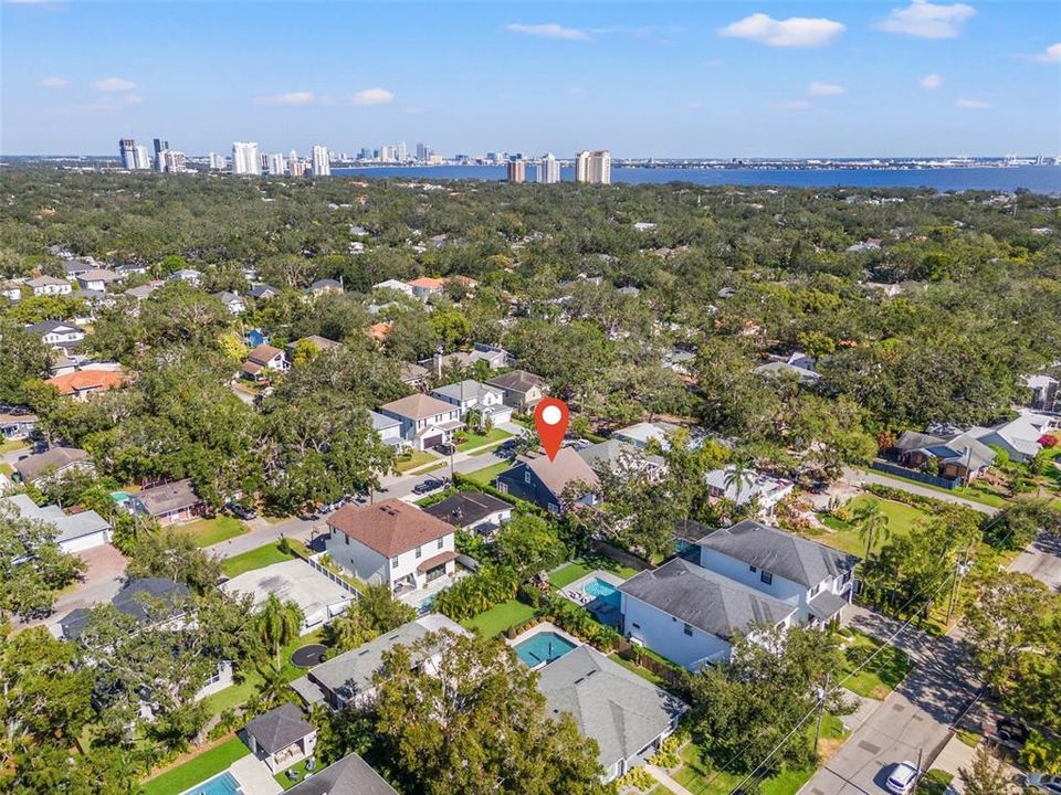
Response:
[[[330,515],[325,549],[359,580],[396,595],[456,573],[453,527],[398,499]]]

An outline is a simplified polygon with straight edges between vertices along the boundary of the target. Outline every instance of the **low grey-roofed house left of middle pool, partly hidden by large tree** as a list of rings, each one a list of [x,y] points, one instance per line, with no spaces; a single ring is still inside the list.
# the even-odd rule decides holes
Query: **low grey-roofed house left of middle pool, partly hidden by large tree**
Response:
[[[464,627],[444,615],[429,613],[356,649],[325,660],[311,668],[306,676],[293,681],[291,687],[311,707],[315,703],[326,703],[332,709],[340,710],[349,704],[355,707],[365,704],[376,692],[376,683],[372,679],[382,667],[386,653],[396,646],[407,648],[418,646],[428,635],[442,630],[458,635],[469,634]],[[441,644],[431,648],[421,646],[413,654],[412,665],[432,671],[442,648]]]

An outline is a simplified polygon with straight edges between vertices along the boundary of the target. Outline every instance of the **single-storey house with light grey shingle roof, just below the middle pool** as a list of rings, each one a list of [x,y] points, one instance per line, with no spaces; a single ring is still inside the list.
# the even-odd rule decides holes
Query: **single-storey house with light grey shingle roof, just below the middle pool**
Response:
[[[689,704],[590,646],[579,646],[538,675],[551,717],[571,716],[597,741],[603,782],[642,765],[677,728]]]

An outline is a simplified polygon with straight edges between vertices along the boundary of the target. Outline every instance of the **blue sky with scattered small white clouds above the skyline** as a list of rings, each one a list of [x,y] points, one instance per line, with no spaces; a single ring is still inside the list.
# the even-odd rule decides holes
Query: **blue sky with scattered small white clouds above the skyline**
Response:
[[[1061,3],[3,0],[0,151],[1061,153]]]

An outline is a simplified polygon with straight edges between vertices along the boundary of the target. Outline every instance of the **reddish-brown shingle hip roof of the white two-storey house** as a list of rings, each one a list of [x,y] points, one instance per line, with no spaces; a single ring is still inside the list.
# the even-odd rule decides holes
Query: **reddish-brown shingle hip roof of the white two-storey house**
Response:
[[[328,518],[328,527],[387,558],[453,532],[444,521],[397,499],[372,506],[345,506]]]

